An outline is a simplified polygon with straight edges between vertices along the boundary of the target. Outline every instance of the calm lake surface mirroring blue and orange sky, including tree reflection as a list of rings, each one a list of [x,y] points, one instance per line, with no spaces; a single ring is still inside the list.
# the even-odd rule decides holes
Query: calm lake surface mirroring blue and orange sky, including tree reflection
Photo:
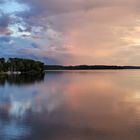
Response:
[[[140,140],[140,71],[1,75],[0,140]]]

